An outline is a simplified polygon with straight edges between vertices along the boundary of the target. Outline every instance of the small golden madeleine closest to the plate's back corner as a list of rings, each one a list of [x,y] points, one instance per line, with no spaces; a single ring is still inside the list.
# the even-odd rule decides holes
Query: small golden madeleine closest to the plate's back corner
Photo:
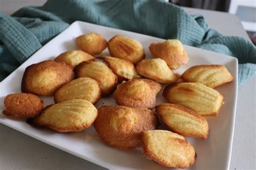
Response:
[[[76,44],[90,55],[99,55],[107,47],[106,39],[95,32],[77,37]]]

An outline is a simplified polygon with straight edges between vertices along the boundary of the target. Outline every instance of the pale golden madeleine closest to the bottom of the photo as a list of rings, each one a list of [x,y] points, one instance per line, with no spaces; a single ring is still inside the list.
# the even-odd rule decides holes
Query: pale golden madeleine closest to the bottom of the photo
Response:
[[[193,146],[181,135],[164,130],[145,131],[142,134],[143,151],[147,159],[173,168],[194,165]]]

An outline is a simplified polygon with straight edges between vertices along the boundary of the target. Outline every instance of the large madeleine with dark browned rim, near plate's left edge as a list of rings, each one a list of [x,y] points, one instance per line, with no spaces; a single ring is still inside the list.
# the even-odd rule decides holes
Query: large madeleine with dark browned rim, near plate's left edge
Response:
[[[26,67],[22,78],[22,92],[49,96],[74,78],[72,66],[46,60]]]

